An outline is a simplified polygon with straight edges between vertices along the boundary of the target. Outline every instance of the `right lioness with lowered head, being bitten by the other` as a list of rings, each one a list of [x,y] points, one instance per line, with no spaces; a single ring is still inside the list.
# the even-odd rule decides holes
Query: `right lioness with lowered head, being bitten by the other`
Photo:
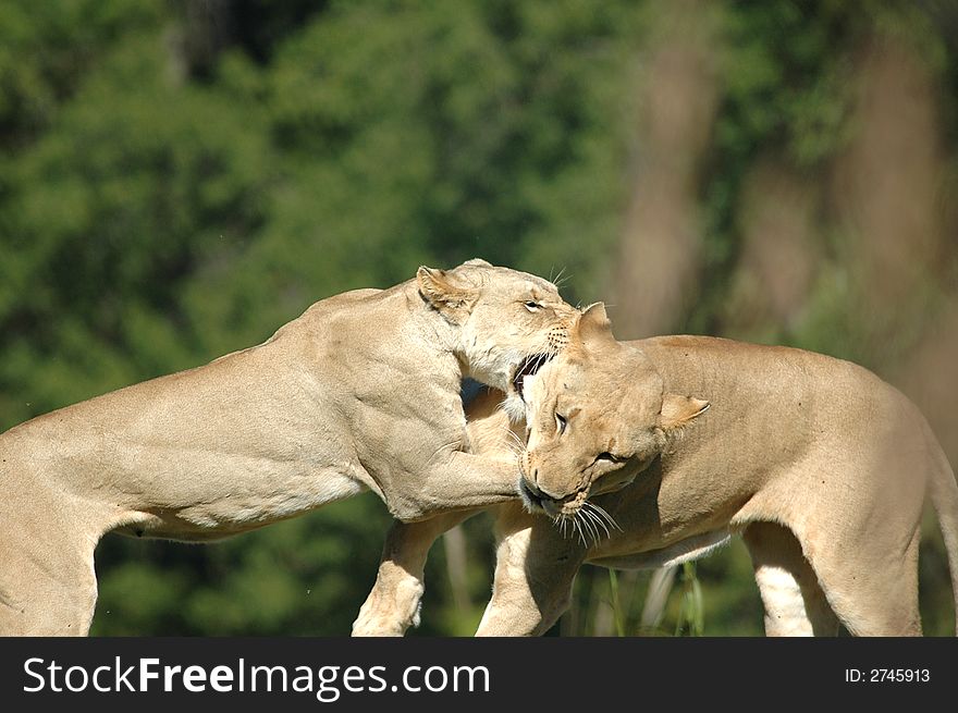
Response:
[[[570,346],[525,380],[528,509],[499,506],[480,635],[536,635],[565,611],[582,563],[678,564],[740,533],[769,635],[918,635],[918,545],[930,500],[958,574],[958,487],[925,419],[847,361],[800,349],[666,336],[618,343],[587,310]],[[494,397],[490,397],[494,399]],[[477,450],[507,451],[480,405]],[[498,434],[498,435],[496,435]],[[390,536],[367,619],[415,622],[429,544],[450,513]],[[368,629],[363,632],[370,632]]]

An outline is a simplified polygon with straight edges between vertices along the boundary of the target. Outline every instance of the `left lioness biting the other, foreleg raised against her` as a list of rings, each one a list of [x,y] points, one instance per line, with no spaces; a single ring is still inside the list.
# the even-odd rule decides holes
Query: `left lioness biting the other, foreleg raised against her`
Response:
[[[374,491],[401,520],[516,497],[469,453],[464,376],[515,383],[567,341],[552,283],[482,260],[316,303],[263,344],[0,435],[0,632],[83,635],[103,533],[211,540]]]

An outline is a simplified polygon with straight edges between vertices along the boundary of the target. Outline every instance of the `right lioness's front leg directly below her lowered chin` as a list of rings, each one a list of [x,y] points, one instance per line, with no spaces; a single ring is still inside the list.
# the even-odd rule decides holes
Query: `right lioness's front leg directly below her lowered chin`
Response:
[[[586,550],[542,515],[500,508],[492,600],[476,636],[541,636],[568,608]]]

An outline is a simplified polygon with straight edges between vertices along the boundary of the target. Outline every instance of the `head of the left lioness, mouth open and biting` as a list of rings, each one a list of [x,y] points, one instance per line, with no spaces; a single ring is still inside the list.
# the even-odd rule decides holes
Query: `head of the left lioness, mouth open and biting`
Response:
[[[528,377],[568,344],[578,310],[533,274],[469,260],[453,270],[420,267],[419,294],[456,328],[465,377],[506,394],[513,420],[525,414]]]

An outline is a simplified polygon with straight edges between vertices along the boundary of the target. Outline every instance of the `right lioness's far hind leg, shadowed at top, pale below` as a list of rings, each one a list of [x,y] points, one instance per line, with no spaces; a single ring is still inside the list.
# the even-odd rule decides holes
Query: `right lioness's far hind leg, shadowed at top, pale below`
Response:
[[[765,635],[836,636],[838,619],[791,531],[753,523],[742,539],[765,610]]]

